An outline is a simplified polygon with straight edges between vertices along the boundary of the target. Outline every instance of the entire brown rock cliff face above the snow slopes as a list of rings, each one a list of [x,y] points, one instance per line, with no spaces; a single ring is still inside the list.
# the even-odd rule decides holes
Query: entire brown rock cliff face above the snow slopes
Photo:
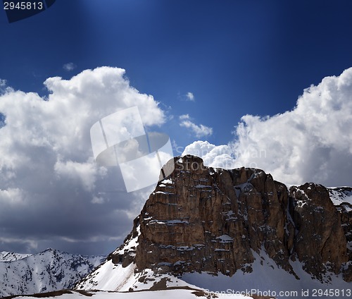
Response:
[[[125,251],[122,245],[113,262],[232,276],[252,271],[253,251],[265,250],[291,274],[290,260],[298,259],[320,281],[327,271],[352,281],[351,215],[334,206],[327,188],[306,183],[287,190],[259,169],[212,169],[198,157],[174,163],[134,221],[130,237],[138,228],[138,245]]]

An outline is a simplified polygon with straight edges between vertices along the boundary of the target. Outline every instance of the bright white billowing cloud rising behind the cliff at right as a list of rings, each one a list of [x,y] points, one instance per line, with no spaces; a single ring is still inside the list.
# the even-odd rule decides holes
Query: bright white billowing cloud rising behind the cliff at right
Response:
[[[352,68],[348,68],[306,88],[291,111],[272,117],[243,116],[234,131],[236,139],[228,145],[194,142],[184,154],[198,151],[211,166],[258,167],[284,183],[352,185],[351,128]],[[216,151],[220,154],[213,154]]]

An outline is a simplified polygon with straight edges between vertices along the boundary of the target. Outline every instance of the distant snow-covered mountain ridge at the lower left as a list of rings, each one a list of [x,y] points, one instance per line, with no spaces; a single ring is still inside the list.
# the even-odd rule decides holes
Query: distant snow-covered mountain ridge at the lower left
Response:
[[[105,260],[52,249],[27,256],[7,252],[1,257],[0,297],[72,288]]]

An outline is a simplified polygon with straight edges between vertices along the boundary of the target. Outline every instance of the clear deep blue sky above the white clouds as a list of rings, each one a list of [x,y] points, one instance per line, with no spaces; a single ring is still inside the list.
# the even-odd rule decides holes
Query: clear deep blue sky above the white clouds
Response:
[[[58,0],[8,24],[1,14],[0,78],[44,94],[51,76],[125,68],[131,85],[213,128],[228,142],[244,114],[294,108],[303,89],[352,63],[350,1]],[[77,68],[67,72],[63,64]],[[195,101],[181,101],[187,92]],[[175,130],[177,128],[177,130]],[[194,140],[170,122],[185,146]]]

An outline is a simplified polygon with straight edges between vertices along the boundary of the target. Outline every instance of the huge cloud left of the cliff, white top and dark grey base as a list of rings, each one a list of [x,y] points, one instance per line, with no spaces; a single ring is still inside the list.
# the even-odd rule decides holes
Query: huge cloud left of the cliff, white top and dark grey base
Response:
[[[126,193],[120,169],[95,163],[89,131],[131,106],[138,106],[145,126],[160,126],[165,116],[124,75],[101,67],[70,80],[47,79],[45,98],[12,89],[0,95],[3,250],[32,251],[37,243],[38,250],[98,254],[113,250],[130,231],[151,188]]]

